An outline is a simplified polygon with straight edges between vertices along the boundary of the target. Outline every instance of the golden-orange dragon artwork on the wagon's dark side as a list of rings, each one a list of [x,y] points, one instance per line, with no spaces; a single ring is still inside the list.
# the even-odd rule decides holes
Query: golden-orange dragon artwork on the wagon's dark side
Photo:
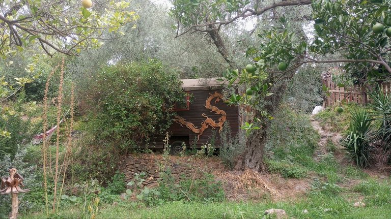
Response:
[[[224,110],[220,110],[216,106],[212,106],[210,102],[216,98],[214,103],[218,103],[220,100],[223,99],[221,93],[215,91],[213,95],[209,93],[209,98],[205,101],[205,108],[210,109],[211,112],[215,112],[217,115],[221,115],[221,117],[218,118],[218,122],[215,122],[213,119],[209,118],[205,113],[202,114],[206,119],[201,122],[201,128],[198,128],[197,126],[194,126],[193,123],[186,121],[186,119],[182,118],[181,116],[175,116],[174,121],[181,125],[181,127],[186,126],[188,129],[190,129],[192,132],[197,133],[197,141],[200,140],[200,136],[204,133],[204,131],[208,127],[212,127],[213,129],[216,129],[219,127],[219,131],[222,130],[222,124],[226,121],[227,114]]]

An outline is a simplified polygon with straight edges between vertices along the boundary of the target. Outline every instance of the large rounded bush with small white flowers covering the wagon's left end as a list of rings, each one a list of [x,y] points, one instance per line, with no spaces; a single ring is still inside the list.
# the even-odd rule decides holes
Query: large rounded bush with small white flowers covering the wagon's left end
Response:
[[[92,131],[122,148],[162,134],[172,122],[174,103],[185,96],[177,75],[156,60],[104,68],[86,88]]]

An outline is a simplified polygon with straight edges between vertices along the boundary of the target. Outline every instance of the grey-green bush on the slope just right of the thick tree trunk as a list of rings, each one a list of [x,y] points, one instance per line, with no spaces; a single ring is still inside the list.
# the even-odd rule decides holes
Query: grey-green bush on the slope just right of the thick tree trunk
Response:
[[[284,177],[304,177],[309,169],[316,168],[312,157],[319,138],[308,115],[280,106],[267,135],[267,168]]]

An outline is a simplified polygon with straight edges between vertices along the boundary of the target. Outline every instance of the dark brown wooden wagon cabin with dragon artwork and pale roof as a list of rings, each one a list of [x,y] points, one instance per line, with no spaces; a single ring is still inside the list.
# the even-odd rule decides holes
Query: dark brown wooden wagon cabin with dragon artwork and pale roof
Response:
[[[187,104],[176,105],[177,116],[172,126],[167,130],[170,135],[171,151],[173,154],[182,150],[182,142],[187,148],[210,142],[215,132],[215,146],[219,147],[219,132],[229,121],[231,135],[239,131],[239,108],[224,103],[221,81],[216,78],[184,79],[182,88],[189,93]],[[163,136],[155,136],[150,145],[163,147]]]

